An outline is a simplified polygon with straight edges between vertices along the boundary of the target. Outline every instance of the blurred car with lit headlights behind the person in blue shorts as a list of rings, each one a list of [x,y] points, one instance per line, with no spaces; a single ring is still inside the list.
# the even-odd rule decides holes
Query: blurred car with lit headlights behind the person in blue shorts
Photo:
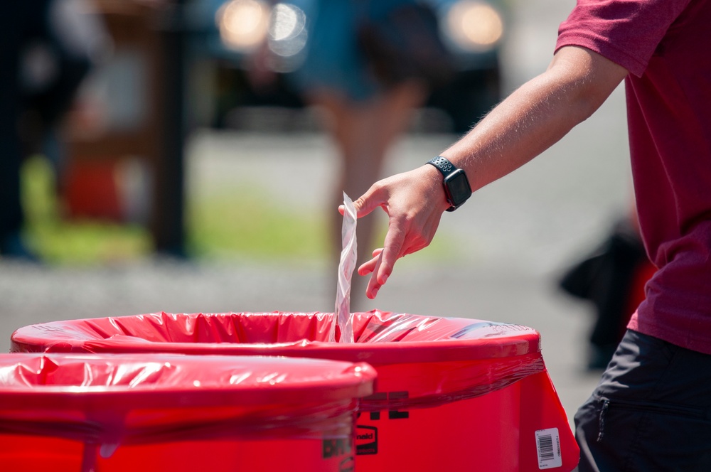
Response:
[[[302,107],[284,75],[296,70],[309,41],[308,2],[290,0],[195,0],[190,17],[199,53],[218,62],[215,125],[229,109],[250,105]],[[454,58],[456,74],[432,90],[426,107],[441,109],[451,131],[466,132],[501,97],[500,54],[506,38],[503,4],[495,0],[426,0],[437,13],[439,31]],[[499,1],[499,0],[496,0]],[[266,39],[266,42],[264,41]],[[249,58],[269,48],[273,87],[260,89],[247,80]]]

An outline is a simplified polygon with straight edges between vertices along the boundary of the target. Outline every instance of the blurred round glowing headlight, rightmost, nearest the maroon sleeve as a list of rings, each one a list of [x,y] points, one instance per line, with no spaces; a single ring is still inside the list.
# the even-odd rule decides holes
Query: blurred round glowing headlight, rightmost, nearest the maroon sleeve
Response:
[[[444,31],[459,48],[473,52],[491,50],[503,36],[503,20],[493,6],[462,0],[447,12]]]

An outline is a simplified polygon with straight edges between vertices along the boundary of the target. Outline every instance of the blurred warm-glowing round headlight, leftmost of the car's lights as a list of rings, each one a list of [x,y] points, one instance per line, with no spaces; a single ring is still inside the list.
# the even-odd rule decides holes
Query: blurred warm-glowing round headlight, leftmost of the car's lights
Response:
[[[215,21],[228,48],[249,52],[267,36],[269,6],[260,0],[230,0],[220,6]]]

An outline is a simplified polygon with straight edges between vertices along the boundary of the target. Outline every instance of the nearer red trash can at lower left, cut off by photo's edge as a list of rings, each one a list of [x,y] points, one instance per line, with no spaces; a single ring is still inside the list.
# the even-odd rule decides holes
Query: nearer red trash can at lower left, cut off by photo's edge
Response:
[[[365,363],[0,355],[0,469],[352,471]]]

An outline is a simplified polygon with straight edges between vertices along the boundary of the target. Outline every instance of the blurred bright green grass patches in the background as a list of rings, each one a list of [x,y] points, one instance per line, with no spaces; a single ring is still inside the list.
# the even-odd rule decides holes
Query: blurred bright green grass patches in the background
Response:
[[[49,264],[110,264],[149,257],[149,230],[137,224],[63,218],[46,159],[34,156],[23,166],[26,236]],[[213,188],[201,198],[187,195],[188,255],[198,259],[324,262],[328,257],[326,215],[298,213],[273,201],[261,201],[256,188]],[[384,231],[384,230],[383,230]],[[384,232],[379,240],[383,240]],[[451,258],[444,235],[418,260]]]

